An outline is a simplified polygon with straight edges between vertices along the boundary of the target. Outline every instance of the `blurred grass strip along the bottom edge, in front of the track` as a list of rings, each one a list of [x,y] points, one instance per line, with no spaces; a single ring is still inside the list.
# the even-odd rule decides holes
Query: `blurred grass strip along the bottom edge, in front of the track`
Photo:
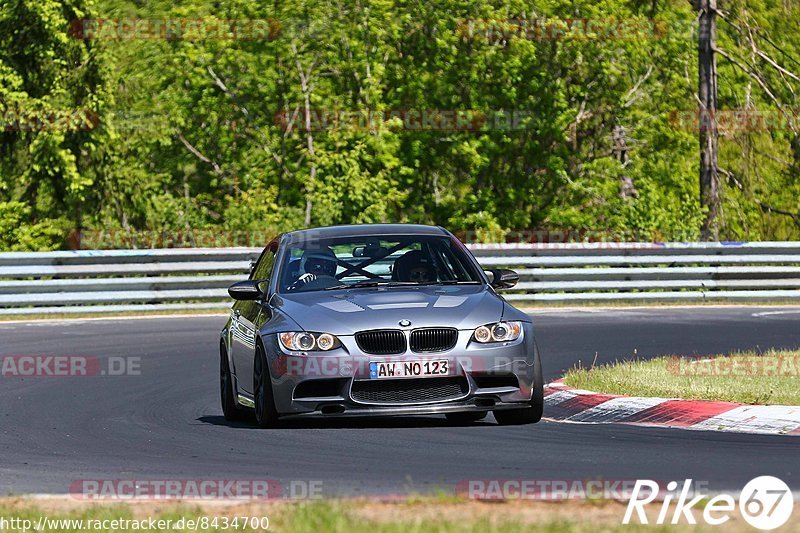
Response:
[[[138,504],[137,504],[138,505]],[[547,533],[592,532],[666,532],[685,531],[686,526],[622,525],[625,507],[607,503],[603,509],[583,502],[563,503],[480,503],[461,501],[438,503],[434,498],[427,502],[373,503],[368,500],[324,500],[312,502],[279,502],[245,504],[244,508],[207,506],[192,507],[177,504],[152,504],[145,509],[137,505],[94,504],[91,506],[40,504],[22,500],[0,502],[0,518],[22,518],[35,522],[40,516],[49,519],[172,519],[208,516],[265,516],[269,518],[268,531],[292,533],[518,533],[520,531]],[[655,518],[655,511],[651,513]],[[174,524],[174,522],[173,522]],[[85,531],[86,529],[84,529]],[[92,531],[130,531],[131,529],[92,529]],[[700,531],[711,531],[701,527]],[[0,531],[15,531],[6,529]],[[54,533],[78,533],[77,528],[48,529]],[[195,531],[174,528],[168,531]],[[262,529],[197,529],[197,531],[247,531],[257,533]],[[692,531],[698,531],[693,528]]]

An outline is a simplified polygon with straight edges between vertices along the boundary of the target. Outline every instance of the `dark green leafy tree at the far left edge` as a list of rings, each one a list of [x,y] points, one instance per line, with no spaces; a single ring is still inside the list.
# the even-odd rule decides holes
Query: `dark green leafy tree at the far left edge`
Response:
[[[105,142],[97,117],[109,95],[91,43],[72,38],[65,21],[90,9],[83,0],[0,6],[0,200],[24,206],[13,208],[20,217],[11,247],[25,247],[31,232],[37,248],[61,246],[83,220]]]

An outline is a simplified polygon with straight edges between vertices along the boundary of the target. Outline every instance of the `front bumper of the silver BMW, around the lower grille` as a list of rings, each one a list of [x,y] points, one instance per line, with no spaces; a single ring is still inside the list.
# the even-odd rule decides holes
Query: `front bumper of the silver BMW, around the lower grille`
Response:
[[[402,416],[519,409],[530,401],[538,363],[533,325],[523,324],[519,339],[507,343],[479,344],[472,331],[460,331],[456,345],[445,352],[374,356],[362,352],[353,337],[339,337],[342,348],[326,355],[287,354],[274,335],[264,337],[270,364],[275,406],[282,417]],[[446,360],[448,374],[441,377],[370,379],[369,364],[376,361]],[[437,382],[457,382],[459,390],[437,397]],[[391,383],[390,383],[391,382]],[[414,397],[412,382],[424,394]],[[410,390],[381,395],[387,389]],[[373,394],[358,392],[369,388]],[[443,387],[442,391],[445,390]],[[377,392],[375,392],[377,391]]]

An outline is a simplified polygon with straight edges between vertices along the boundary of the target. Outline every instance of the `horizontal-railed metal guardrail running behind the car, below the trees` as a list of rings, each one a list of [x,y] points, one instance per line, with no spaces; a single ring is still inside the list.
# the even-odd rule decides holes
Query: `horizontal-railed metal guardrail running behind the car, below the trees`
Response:
[[[800,302],[800,242],[475,244],[515,302]],[[260,248],[0,253],[0,315],[224,309]]]

